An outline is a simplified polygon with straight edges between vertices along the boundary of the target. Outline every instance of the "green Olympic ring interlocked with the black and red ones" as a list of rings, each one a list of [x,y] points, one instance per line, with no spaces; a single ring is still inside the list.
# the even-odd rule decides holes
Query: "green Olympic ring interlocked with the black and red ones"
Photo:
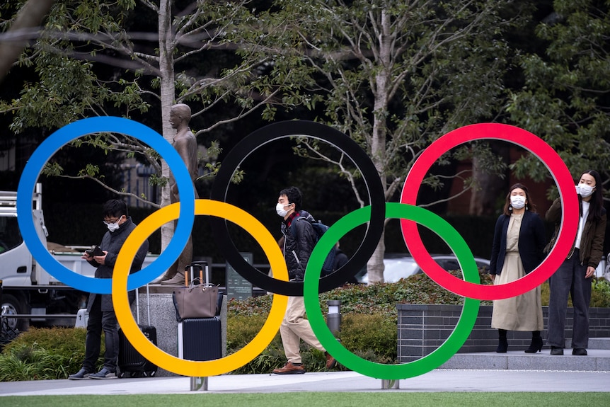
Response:
[[[320,272],[326,258],[325,253],[328,253],[330,248],[345,236],[348,231],[369,222],[370,212],[370,207],[367,206],[346,214],[323,234],[316,247],[313,248],[307,263],[303,286],[306,313],[313,333],[316,334],[318,340],[326,348],[326,351],[348,369],[377,379],[397,380],[419,376],[447,362],[464,345],[476,321],[480,301],[471,298],[464,299],[464,308],[449,338],[437,350],[430,353],[430,355],[426,355],[413,362],[402,363],[400,365],[383,365],[364,360],[345,349],[335,339],[333,333],[330,332],[322,315],[318,297]],[[470,248],[468,248],[462,236],[444,219],[423,208],[396,202],[386,203],[386,218],[413,220],[435,231],[445,243],[449,244],[451,242],[451,250],[454,251],[458,258],[462,273],[464,273],[464,280],[476,282],[477,284],[480,283],[478,268]]]

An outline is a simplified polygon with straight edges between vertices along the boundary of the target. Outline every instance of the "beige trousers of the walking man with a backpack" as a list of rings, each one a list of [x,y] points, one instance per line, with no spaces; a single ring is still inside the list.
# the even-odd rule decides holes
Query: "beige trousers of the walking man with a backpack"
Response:
[[[288,306],[284,320],[280,326],[280,336],[284,345],[284,354],[289,362],[301,363],[299,351],[301,339],[322,352],[326,352],[316,335],[305,319],[304,297],[288,297]]]

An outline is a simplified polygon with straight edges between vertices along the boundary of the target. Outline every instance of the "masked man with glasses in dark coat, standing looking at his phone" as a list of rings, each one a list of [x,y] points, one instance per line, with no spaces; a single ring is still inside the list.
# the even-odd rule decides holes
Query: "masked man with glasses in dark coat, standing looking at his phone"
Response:
[[[112,278],[119,251],[127,240],[127,236],[136,228],[136,224],[132,222],[131,217],[127,216],[127,205],[121,200],[106,202],[103,207],[103,217],[104,223],[108,227],[108,231],[100,243],[103,256],[96,256],[95,253],[86,251],[82,258],[96,267],[96,278]],[[149,243],[146,240],[136,253],[130,273],[142,268],[148,249]],[[112,294],[89,294],[87,311],[89,319],[85,339],[85,360],[82,369],[71,374],[68,379],[115,379],[117,377],[119,333]],[[105,336],[104,367],[99,372],[93,373],[100,355],[102,331]]]

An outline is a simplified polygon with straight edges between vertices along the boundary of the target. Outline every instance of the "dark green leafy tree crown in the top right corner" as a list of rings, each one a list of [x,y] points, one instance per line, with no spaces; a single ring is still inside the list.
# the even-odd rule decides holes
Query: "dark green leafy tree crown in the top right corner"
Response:
[[[524,129],[542,137],[578,176],[587,168],[610,168],[610,4],[553,1],[553,13],[536,27],[545,46],[522,55],[525,86],[507,111]],[[534,157],[517,161],[517,176],[545,176]],[[556,191],[551,191],[556,197]]]

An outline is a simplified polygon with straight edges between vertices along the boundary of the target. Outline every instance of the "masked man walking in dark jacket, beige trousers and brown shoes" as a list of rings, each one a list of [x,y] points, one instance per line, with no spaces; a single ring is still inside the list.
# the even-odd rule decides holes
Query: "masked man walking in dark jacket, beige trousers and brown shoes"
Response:
[[[282,247],[284,260],[288,268],[290,281],[302,282],[309,256],[313,251],[318,236],[310,222],[311,214],[301,210],[301,191],[297,187],[289,187],[280,191],[275,210],[282,222],[284,245]],[[311,220],[309,219],[311,218]],[[275,374],[302,374],[305,368],[299,352],[301,339],[326,355],[326,368],[335,366],[335,358],[324,349],[305,319],[305,302],[303,297],[289,297],[284,320],[280,326],[280,336],[284,346],[284,354],[288,362],[283,367],[273,370]]]

